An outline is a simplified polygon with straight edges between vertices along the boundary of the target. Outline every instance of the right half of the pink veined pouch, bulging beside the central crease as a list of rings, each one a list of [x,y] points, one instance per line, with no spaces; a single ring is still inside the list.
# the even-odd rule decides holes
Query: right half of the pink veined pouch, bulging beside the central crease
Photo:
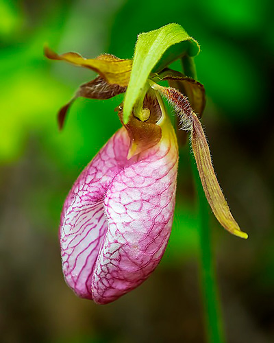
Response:
[[[177,145],[172,143],[140,154],[106,193],[109,226],[92,277],[96,303],[110,303],[140,285],[164,254],[175,206]]]

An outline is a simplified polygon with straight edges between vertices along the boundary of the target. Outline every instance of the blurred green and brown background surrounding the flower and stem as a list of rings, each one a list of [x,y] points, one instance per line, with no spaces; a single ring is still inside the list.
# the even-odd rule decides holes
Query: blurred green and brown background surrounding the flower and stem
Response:
[[[232,213],[249,233],[233,237],[212,217],[227,341],[274,342],[272,1],[0,0],[0,15],[1,342],[205,342],[188,147],[169,246],[138,289],[105,306],[77,298],[58,246],[64,198],[120,127],[122,97],[77,99],[58,132],[58,109],[95,74],[46,60],[44,43],[132,58],[138,33],[172,22],[201,45],[203,126]]]

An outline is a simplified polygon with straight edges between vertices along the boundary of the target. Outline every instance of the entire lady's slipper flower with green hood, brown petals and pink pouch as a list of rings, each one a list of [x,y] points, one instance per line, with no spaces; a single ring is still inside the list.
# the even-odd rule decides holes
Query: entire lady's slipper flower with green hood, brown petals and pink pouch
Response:
[[[229,211],[195,114],[203,112],[204,88],[167,68],[173,60],[198,52],[196,40],[177,24],[140,34],[133,60],[108,54],[86,59],[45,49],[50,59],[99,74],[60,110],[60,128],[77,97],[108,99],[125,93],[116,109],[122,127],[82,171],[62,209],[62,270],[77,296],[110,303],[145,281],[162,259],[173,223],[178,165],[177,137],[162,97],[175,108],[179,128],[190,131],[203,189],[217,220],[230,233],[247,238]],[[161,86],[163,80],[170,86]]]

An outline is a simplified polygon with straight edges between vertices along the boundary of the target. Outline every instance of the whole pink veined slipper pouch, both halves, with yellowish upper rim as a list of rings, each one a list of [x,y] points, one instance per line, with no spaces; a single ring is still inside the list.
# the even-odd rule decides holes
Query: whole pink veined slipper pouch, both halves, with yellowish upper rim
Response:
[[[64,204],[64,276],[77,295],[96,303],[110,303],[145,281],[171,234],[178,149],[159,103],[155,113],[151,108],[155,119],[149,119],[162,130],[159,143],[130,158],[131,140],[121,128],[84,169]]]

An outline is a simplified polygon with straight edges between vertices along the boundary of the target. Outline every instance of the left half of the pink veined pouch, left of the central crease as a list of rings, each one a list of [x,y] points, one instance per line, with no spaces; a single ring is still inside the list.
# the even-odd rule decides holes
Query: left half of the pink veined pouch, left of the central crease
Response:
[[[92,298],[91,279],[108,230],[103,199],[127,161],[129,137],[121,128],[77,178],[61,215],[60,246],[64,278],[82,298]]]

